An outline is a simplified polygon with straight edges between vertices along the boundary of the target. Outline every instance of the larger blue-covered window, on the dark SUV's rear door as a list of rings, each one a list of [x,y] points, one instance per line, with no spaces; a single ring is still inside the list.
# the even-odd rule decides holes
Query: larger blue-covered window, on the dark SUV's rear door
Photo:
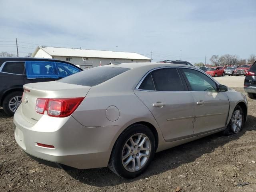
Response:
[[[54,62],[26,61],[25,69],[27,78],[54,78],[58,79],[58,73]]]

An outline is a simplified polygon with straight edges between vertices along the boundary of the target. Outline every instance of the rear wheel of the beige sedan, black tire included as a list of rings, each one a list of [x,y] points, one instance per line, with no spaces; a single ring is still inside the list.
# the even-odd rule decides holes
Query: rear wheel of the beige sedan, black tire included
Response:
[[[156,150],[152,131],[143,124],[134,124],[116,140],[108,168],[123,178],[142,174],[154,158]]]

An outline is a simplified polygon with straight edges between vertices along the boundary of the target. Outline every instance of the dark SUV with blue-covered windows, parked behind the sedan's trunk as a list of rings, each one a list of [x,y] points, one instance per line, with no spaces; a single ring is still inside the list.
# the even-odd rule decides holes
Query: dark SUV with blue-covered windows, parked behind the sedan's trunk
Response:
[[[0,106],[14,115],[22,102],[23,85],[54,81],[82,69],[65,61],[44,58],[0,58]]]

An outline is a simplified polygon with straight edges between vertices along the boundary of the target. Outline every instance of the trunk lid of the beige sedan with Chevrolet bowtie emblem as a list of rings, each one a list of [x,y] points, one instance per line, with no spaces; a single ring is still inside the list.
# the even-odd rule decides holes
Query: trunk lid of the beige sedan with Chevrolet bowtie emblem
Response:
[[[67,84],[58,81],[25,84],[22,97],[22,116],[28,122],[36,124],[45,114],[36,112],[38,98],[78,98],[85,97],[91,87]]]

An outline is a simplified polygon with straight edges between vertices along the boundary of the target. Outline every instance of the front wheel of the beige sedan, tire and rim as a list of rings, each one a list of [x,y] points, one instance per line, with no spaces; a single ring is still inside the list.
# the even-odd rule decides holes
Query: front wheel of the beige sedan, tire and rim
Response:
[[[223,131],[224,135],[229,134],[238,134],[244,126],[244,112],[242,108],[237,105],[232,113],[230,122],[226,128],[226,130]]]

